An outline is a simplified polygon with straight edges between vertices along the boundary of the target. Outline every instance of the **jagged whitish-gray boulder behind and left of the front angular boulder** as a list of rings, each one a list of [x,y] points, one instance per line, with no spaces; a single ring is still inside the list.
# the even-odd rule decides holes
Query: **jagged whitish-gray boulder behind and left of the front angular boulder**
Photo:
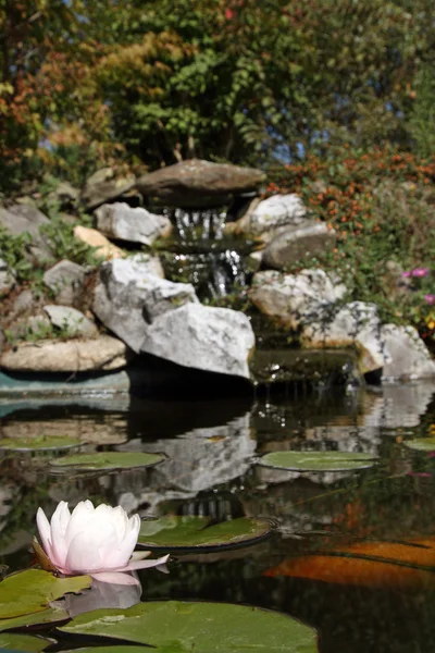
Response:
[[[148,262],[113,259],[100,268],[92,310],[134,352],[140,352],[147,328],[156,318],[196,301],[192,285],[157,276]]]

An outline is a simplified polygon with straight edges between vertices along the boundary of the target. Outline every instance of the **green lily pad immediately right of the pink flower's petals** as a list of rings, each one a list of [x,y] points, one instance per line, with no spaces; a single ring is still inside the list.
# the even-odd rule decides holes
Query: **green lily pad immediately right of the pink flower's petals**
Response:
[[[269,537],[273,527],[265,519],[241,517],[209,526],[209,517],[167,516],[142,521],[138,544],[146,549],[216,550],[256,544]]]

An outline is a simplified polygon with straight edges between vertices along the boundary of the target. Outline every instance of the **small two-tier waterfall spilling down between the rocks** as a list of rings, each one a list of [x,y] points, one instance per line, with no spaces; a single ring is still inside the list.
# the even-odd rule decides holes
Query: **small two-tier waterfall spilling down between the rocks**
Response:
[[[246,241],[225,235],[226,210],[166,210],[174,225],[171,251],[163,256],[173,281],[191,283],[202,300],[227,296],[247,284]]]

